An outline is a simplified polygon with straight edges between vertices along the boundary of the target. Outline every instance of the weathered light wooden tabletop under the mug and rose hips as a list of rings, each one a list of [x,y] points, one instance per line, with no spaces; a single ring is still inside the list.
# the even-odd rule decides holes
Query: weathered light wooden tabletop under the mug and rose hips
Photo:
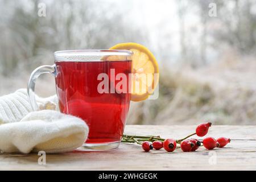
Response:
[[[195,131],[196,126],[127,125],[126,134],[160,135],[181,138]],[[37,154],[1,154],[0,169],[22,170],[251,170],[256,169],[256,126],[212,126],[212,137],[229,137],[225,148],[196,152],[168,153],[164,150],[143,152],[136,144],[121,144],[118,150],[47,154],[46,165],[39,165]]]

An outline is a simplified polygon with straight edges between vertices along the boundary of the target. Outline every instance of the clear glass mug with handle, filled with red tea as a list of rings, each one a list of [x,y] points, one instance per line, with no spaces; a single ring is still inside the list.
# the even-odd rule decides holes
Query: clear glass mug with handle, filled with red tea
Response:
[[[82,118],[89,126],[88,139],[77,150],[118,148],[129,111],[130,93],[111,90],[111,86],[117,85],[118,74],[129,77],[132,55],[126,50],[55,52],[55,64],[43,65],[31,73],[27,92],[32,109],[38,110],[34,93],[36,78],[51,73],[55,76],[61,113]],[[105,85],[102,80],[107,81]],[[123,86],[129,88],[129,81]]]

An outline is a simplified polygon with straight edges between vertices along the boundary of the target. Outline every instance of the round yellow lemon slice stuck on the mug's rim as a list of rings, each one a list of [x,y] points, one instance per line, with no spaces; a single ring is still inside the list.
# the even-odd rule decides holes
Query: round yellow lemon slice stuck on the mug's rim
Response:
[[[131,100],[146,100],[158,85],[159,68],[155,56],[137,43],[121,43],[110,49],[126,49],[133,52],[131,73]]]

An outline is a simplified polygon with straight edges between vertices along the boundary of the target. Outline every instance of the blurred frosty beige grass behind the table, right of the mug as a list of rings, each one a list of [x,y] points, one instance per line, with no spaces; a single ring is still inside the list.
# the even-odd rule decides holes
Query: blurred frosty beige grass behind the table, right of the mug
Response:
[[[158,100],[133,103],[129,123],[256,124],[256,60],[226,57],[196,71],[160,73]]]

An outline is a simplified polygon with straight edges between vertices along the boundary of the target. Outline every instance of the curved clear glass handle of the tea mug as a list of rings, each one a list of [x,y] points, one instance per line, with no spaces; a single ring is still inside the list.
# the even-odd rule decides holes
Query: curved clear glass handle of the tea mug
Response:
[[[39,110],[38,104],[36,103],[35,99],[35,82],[36,79],[44,74],[44,73],[51,73],[53,76],[56,76],[56,65],[44,65],[41,67],[36,68],[30,75],[30,80],[27,84],[27,94],[28,94],[28,101],[32,107],[32,110],[36,111]]]

